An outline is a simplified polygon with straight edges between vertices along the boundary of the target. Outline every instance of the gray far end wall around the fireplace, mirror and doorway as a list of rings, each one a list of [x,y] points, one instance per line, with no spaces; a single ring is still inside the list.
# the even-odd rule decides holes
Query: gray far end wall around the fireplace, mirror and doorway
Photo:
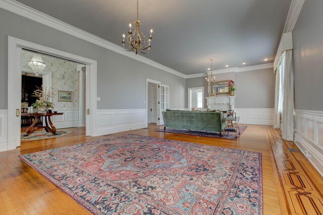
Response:
[[[216,75],[216,78],[219,81],[229,79],[235,81],[237,84],[237,90],[235,91],[236,108],[274,108],[275,106],[275,75],[273,68],[239,73],[223,73]],[[186,79],[186,88],[204,86],[204,95],[207,96],[207,86],[204,79],[204,77]],[[204,107],[207,108],[206,99]]]

